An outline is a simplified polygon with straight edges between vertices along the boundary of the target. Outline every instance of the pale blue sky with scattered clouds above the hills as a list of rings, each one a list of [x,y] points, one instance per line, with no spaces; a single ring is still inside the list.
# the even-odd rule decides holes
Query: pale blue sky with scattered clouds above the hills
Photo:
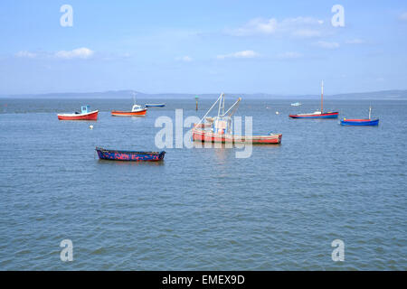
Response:
[[[407,1],[2,0],[0,39],[0,95],[407,89]]]

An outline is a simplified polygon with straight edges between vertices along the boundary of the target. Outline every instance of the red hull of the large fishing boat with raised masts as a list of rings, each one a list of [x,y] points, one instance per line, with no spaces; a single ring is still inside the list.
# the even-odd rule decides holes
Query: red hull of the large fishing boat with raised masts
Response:
[[[210,142],[222,144],[280,144],[281,134],[278,135],[219,135],[202,130],[193,131],[194,142]]]

